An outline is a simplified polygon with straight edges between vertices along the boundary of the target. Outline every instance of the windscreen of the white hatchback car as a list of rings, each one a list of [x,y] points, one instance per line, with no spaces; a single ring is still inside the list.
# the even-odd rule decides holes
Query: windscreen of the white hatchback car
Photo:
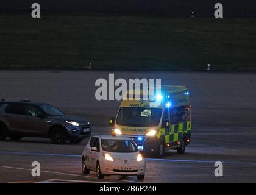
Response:
[[[138,148],[132,140],[101,140],[101,147],[106,152],[137,152]]]

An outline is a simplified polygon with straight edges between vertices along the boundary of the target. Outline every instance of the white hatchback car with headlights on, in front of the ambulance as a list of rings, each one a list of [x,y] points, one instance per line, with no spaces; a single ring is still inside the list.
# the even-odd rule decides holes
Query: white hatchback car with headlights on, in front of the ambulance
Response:
[[[82,154],[83,174],[96,171],[98,179],[105,175],[129,175],[143,180],[145,169],[145,160],[129,137],[93,136]]]

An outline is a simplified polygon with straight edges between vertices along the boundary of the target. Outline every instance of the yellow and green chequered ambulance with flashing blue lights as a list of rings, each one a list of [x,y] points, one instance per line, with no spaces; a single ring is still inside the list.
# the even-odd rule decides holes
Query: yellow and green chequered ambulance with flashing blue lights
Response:
[[[145,154],[162,158],[165,151],[183,154],[191,141],[191,105],[185,86],[162,85],[155,99],[143,99],[143,89],[127,90],[116,117],[110,118],[112,135],[132,138]],[[140,98],[136,98],[137,94]],[[129,97],[133,96],[133,99]],[[154,101],[160,101],[152,106]]]

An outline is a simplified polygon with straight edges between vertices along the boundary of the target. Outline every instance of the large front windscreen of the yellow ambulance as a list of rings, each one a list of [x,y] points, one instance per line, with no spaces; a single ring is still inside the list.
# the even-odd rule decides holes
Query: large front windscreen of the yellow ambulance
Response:
[[[130,127],[152,127],[159,124],[161,115],[161,108],[121,107],[116,124]]]

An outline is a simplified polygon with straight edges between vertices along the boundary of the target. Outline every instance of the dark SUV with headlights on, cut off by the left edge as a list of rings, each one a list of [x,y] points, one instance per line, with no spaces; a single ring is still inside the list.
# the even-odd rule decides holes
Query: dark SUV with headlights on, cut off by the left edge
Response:
[[[91,134],[89,122],[65,115],[50,104],[23,100],[0,102],[0,140],[51,138],[55,144],[80,143]]]

